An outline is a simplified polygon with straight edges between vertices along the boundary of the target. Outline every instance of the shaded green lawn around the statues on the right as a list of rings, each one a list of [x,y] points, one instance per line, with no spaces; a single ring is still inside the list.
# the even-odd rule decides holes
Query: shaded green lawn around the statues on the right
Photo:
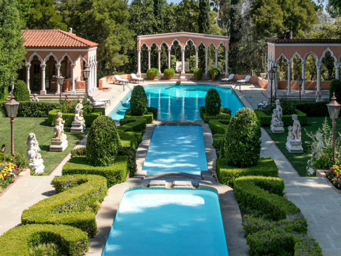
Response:
[[[311,158],[311,152],[308,149],[308,144],[305,141],[311,141],[311,138],[307,136],[307,132],[312,132],[316,134],[319,128],[322,128],[322,123],[324,122],[324,118],[307,118],[307,123],[302,126],[302,147],[303,153],[289,153],[289,151],[285,148],[286,137],[288,136],[288,127],[284,127],[284,133],[272,133],[270,127],[264,127],[269,136],[275,141],[278,148],[282,151],[284,156],[289,160],[289,162],[294,166],[296,171],[301,175],[305,176],[305,169],[307,166],[307,161]],[[330,127],[332,127],[332,120],[327,117],[327,122]],[[305,130],[306,131],[305,131]],[[338,132],[341,133],[341,120],[338,119],[336,124],[336,133],[338,136]]]

